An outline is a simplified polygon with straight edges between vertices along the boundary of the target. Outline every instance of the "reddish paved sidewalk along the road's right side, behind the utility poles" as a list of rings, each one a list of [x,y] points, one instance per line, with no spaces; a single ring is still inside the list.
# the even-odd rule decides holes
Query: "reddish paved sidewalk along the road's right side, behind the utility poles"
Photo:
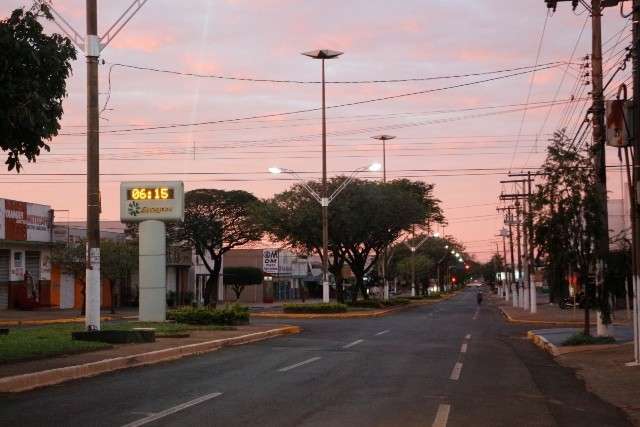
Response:
[[[511,301],[505,301],[497,295],[492,299],[498,305],[499,310],[513,323],[537,323],[543,325],[581,326],[584,324],[584,310],[562,310],[555,304],[549,304],[549,299],[544,294],[538,294],[537,313],[532,314],[522,308],[513,307]],[[616,310],[614,313],[614,325],[630,324],[625,310]],[[596,323],[596,312],[592,311],[590,323]]]

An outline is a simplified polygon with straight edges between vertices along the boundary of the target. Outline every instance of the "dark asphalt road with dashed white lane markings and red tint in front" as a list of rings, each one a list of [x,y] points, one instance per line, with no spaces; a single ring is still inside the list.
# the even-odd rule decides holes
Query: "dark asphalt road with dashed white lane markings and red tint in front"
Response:
[[[299,335],[0,396],[0,425],[630,425],[473,290],[296,323]]]

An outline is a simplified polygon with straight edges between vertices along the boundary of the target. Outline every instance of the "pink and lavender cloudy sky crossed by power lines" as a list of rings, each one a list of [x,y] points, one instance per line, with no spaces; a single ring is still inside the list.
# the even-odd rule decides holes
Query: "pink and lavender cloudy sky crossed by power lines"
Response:
[[[98,1],[101,34],[130,3]],[[0,0],[0,18],[30,4]],[[53,5],[84,33],[84,1]],[[506,172],[540,166],[551,134],[566,127],[573,136],[584,117],[587,19],[582,6],[574,12],[569,3],[549,14],[542,0],[150,0],[101,54],[101,219],[118,219],[123,180],[183,180],[187,190],[242,189],[267,198],[295,182],[270,175],[270,166],[318,179],[320,112],[276,114],[320,107],[321,64],[300,53],[333,49],[344,54],[326,62],[327,81],[341,82],[327,84],[330,176],[381,162],[381,145],[371,137],[396,136],[387,147],[388,177],[433,183],[448,221],[436,231],[486,260],[502,226],[498,195],[512,191],[500,184]],[[624,57],[630,31],[617,8],[605,11],[607,77]],[[63,221],[86,218],[86,71],[78,56],[51,152],[20,175],[0,177],[0,197],[51,205]],[[493,73],[549,63],[536,73]],[[615,76],[609,98],[629,69]],[[476,75],[459,77],[468,74]],[[344,83],[403,79],[423,80]],[[265,115],[273,116],[246,120]],[[166,127],[202,122],[209,123]],[[619,163],[615,150],[607,157]],[[608,182],[610,197],[620,198],[619,171],[612,169]]]

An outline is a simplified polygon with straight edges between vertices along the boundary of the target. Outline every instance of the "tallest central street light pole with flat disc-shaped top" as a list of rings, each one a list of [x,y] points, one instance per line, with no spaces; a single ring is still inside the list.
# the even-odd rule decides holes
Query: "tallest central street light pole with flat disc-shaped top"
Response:
[[[322,61],[322,301],[329,302],[329,197],[327,195],[327,115],[325,105],[324,61],[342,55],[329,49],[304,52],[303,55]]]

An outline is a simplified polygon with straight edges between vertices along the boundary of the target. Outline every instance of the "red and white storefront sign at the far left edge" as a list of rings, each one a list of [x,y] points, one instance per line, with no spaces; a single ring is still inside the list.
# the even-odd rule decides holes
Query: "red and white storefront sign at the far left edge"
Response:
[[[51,207],[0,199],[0,239],[50,242]]]

